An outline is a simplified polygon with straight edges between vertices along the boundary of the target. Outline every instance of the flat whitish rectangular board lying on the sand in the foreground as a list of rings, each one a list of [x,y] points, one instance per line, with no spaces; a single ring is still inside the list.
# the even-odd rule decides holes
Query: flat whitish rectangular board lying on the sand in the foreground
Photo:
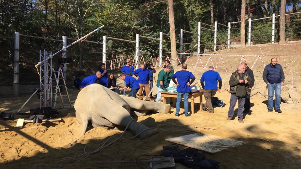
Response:
[[[165,140],[212,154],[230,147],[246,144],[244,141],[237,141],[203,133],[195,133]]]

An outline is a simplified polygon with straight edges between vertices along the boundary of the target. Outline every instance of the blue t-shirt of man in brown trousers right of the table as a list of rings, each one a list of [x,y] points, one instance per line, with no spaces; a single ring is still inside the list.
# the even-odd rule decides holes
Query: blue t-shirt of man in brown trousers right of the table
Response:
[[[205,90],[211,89],[211,90],[217,90],[217,81],[221,80],[222,78],[219,76],[218,72],[215,72],[213,70],[208,70],[207,72],[204,72],[201,77],[201,82],[205,81]]]

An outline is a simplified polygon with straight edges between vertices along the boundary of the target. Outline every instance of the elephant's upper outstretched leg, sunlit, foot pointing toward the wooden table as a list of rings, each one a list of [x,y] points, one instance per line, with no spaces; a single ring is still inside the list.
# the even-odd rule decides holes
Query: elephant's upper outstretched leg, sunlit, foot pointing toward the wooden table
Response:
[[[133,97],[121,97],[134,110],[154,110],[163,114],[170,112],[170,105],[163,105],[153,101],[137,100]]]

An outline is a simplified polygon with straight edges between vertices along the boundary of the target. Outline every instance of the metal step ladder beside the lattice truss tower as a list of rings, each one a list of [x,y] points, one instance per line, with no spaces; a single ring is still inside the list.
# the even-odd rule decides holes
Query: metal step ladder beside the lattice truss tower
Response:
[[[65,106],[72,107],[70,97],[69,97],[69,93],[68,93],[68,88],[66,86],[66,81],[65,81],[65,78],[64,78],[64,74],[63,74],[63,70],[61,69],[61,67],[59,68],[58,71],[55,71],[54,68],[52,68],[52,72],[54,73],[54,77],[55,77],[52,80],[56,81],[56,85],[52,85],[52,87],[55,88],[55,97],[54,97],[54,100],[52,101],[53,102],[53,108],[55,108],[55,105],[56,105],[57,94],[60,95],[61,103],[63,105],[62,108],[65,108]],[[64,82],[64,85],[60,85],[60,83],[59,83],[60,80],[62,80]],[[52,84],[54,84],[54,83],[52,83]],[[61,91],[62,86],[64,86],[63,88],[65,88],[65,91]]]

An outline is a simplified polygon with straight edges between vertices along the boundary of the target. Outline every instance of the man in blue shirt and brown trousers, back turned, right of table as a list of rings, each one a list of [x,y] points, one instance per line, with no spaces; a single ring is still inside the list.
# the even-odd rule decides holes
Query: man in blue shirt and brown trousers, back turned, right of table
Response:
[[[217,81],[219,81],[219,88],[217,88]],[[206,110],[207,108],[207,112],[214,113],[211,98],[217,91],[219,92],[222,89],[222,78],[219,76],[219,73],[214,71],[213,66],[209,66],[209,70],[203,73],[201,77],[201,85],[204,89],[204,97],[206,100],[203,110]]]

